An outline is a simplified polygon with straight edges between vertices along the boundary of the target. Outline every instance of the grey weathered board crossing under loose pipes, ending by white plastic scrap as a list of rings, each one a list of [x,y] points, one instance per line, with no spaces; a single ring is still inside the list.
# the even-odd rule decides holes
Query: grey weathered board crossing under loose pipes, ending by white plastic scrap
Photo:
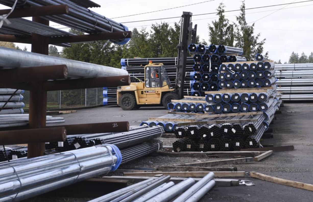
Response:
[[[157,177],[142,177],[142,176],[105,176],[102,177],[101,179],[103,181],[110,179],[112,182],[112,180],[128,180],[128,182],[132,182],[132,183],[138,183],[141,181],[144,181],[146,179],[156,179]],[[174,182],[175,184],[185,180],[186,178],[181,178],[181,177],[171,177],[171,179],[169,179],[169,181]],[[198,182],[199,180],[201,180],[202,178],[193,178],[196,182]],[[239,186],[239,180],[238,179],[213,179],[215,181],[215,185],[216,186]]]

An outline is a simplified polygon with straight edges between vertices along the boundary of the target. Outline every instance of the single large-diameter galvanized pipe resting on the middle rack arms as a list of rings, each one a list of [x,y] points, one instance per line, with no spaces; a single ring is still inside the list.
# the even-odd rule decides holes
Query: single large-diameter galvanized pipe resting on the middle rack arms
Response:
[[[31,53],[0,47],[0,66],[7,68],[26,68],[49,65],[66,65],[70,78],[93,78],[128,75],[126,70],[76,60]]]

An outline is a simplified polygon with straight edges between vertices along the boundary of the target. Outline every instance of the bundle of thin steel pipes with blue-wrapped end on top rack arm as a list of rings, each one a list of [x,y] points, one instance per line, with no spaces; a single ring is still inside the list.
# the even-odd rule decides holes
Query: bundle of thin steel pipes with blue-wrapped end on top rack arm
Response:
[[[14,0],[0,1],[0,3],[9,7],[12,7],[14,2]],[[69,0],[28,0],[27,2],[19,0],[17,2],[17,5],[23,5],[23,7],[40,7],[62,4],[66,4],[69,7],[68,14],[42,16],[42,18],[58,24],[62,24],[64,26],[68,26],[73,29],[80,30],[85,33],[111,33],[128,31],[128,28],[125,25],[90,11],[88,8],[82,7]],[[114,43],[123,45],[129,41],[129,38],[112,41]]]

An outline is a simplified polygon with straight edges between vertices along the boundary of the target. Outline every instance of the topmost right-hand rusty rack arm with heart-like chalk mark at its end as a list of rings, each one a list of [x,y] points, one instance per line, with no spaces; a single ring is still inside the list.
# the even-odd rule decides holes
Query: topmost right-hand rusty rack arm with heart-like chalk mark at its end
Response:
[[[58,43],[79,43],[88,41],[99,41],[99,40],[109,40],[109,39],[123,39],[131,38],[131,31],[127,32],[113,32],[113,33],[98,33],[98,34],[86,34],[77,36],[64,36],[64,37],[53,37],[49,38],[50,44]]]

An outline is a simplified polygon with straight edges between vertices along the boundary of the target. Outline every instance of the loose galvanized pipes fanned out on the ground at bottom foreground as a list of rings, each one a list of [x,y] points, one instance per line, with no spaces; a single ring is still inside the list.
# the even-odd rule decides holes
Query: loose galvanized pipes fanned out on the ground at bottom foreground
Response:
[[[214,173],[210,172],[195,183],[192,178],[187,178],[176,184],[170,176],[163,175],[156,179],[146,179],[126,188],[106,194],[89,202],[100,201],[134,201],[134,202],[161,202],[161,201],[198,201],[215,186]],[[173,200],[174,199],[174,200]]]

